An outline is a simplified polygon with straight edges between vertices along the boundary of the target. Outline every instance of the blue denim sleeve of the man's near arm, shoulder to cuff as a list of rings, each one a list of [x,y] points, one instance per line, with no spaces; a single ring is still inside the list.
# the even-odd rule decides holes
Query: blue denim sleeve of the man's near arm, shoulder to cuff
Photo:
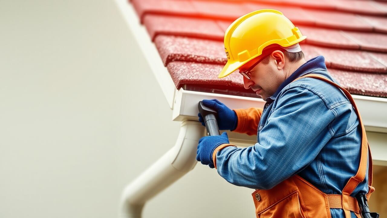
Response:
[[[258,143],[227,146],[216,153],[217,172],[234,185],[271,189],[317,157],[332,138],[329,124],[334,118],[319,95],[301,87],[286,90],[260,130]]]

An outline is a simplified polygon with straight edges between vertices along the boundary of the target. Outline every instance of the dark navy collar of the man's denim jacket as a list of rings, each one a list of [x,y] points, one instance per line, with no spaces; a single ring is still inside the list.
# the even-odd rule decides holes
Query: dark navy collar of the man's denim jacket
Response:
[[[291,83],[296,78],[303,76],[308,73],[312,73],[315,70],[327,70],[327,66],[325,66],[325,58],[324,56],[317,56],[315,58],[310,59],[305,64],[301,65],[294,71],[281,85],[278,87],[277,91],[271,97],[267,98],[267,102],[271,102],[276,100],[277,95],[285,88],[289,83]]]

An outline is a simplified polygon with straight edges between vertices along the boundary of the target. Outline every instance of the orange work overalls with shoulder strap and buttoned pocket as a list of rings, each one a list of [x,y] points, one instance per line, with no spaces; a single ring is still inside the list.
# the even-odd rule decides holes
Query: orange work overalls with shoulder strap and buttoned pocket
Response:
[[[340,88],[354,107],[359,118],[359,125],[361,125],[362,130],[361,154],[358,171],[356,175],[352,176],[348,180],[347,184],[342,190],[341,195],[325,194],[298,175],[291,176],[272,189],[257,189],[252,193],[255,204],[255,214],[257,218],[330,218],[330,208],[341,208],[344,209],[346,218],[351,218],[350,211],[353,211],[356,217],[360,218],[361,216],[358,202],[356,198],[351,197],[350,195],[357,187],[357,185],[363,182],[365,178],[367,169],[367,157],[369,158],[370,162],[368,167],[369,191],[368,194],[366,194],[367,199],[370,198],[371,193],[375,190],[372,187],[372,157],[360,113],[351,94],[344,88],[318,74],[307,74],[297,78],[296,80],[305,77],[312,77],[323,80],[327,83],[330,83],[331,85],[336,86],[337,88]],[[260,114],[255,116],[260,116]],[[259,120],[259,117],[255,119]],[[223,144],[217,147],[212,154],[215,167],[216,152],[227,146],[235,145]]]

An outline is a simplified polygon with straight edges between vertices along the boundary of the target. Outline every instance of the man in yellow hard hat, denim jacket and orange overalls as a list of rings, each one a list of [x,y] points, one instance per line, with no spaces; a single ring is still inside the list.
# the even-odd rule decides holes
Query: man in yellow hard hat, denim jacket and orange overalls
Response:
[[[217,110],[220,130],[257,134],[257,143],[241,149],[226,132],[206,136],[197,160],[234,185],[257,189],[257,217],[360,217],[354,197],[374,190],[365,130],[324,57],[305,61],[298,44],[305,38],[277,10],[251,12],[229,26],[219,77],[239,69],[244,87],[266,104],[231,110],[215,99],[203,103]]]

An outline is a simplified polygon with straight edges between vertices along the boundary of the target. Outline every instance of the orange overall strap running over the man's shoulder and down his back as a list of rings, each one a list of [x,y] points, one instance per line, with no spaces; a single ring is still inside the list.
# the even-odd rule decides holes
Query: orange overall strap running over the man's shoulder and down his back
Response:
[[[331,80],[325,78],[324,76],[321,76],[319,74],[307,74],[304,76],[301,76],[297,78],[296,80],[300,80],[302,78],[316,78],[319,80],[323,80],[339,89],[341,89],[348,100],[351,102],[352,106],[354,107],[354,110],[356,114],[358,115],[359,118],[359,124],[361,126],[361,151],[360,151],[360,163],[359,163],[359,168],[356,173],[356,175],[352,176],[347,184],[345,185],[344,189],[342,190],[342,195],[341,195],[341,204],[342,204],[342,209],[344,209],[345,216],[346,218],[351,218],[351,213],[349,210],[349,195],[352,194],[352,192],[356,189],[356,187],[359,185],[359,183],[363,182],[367,170],[367,156],[369,158],[370,164],[368,166],[368,185],[372,186],[372,158],[371,158],[371,152],[369,149],[368,141],[367,141],[367,136],[365,132],[365,128],[363,125],[363,120],[361,119],[360,112],[358,111],[358,108],[356,107],[356,104],[351,96],[351,94],[341,86],[337,85],[336,83],[332,82]],[[295,80],[295,81],[296,81]]]

